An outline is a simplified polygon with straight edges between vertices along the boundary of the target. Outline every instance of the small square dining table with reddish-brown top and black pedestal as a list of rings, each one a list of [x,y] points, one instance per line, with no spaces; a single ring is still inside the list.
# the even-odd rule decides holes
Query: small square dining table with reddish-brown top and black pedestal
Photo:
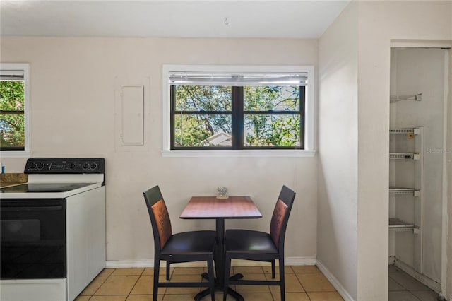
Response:
[[[225,220],[261,217],[261,212],[249,196],[228,196],[227,199],[218,199],[216,196],[193,196],[182,211],[180,218],[215,220],[215,291],[222,291],[225,283]],[[203,278],[206,277],[204,273]],[[232,277],[239,279],[243,276],[237,274]],[[228,288],[227,293],[237,301],[244,301],[242,295],[232,288]],[[209,294],[210,290],[206,289],[198,293],[194,299],[198,301]]]

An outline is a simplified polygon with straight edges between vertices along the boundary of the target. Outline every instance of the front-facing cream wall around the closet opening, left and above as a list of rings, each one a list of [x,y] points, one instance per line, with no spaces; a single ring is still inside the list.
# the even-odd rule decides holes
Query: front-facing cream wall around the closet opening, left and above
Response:
[[[359,1],[359,300],[382,300],[388,290],[391,40],[451,40],[451,5],[450,1]]]

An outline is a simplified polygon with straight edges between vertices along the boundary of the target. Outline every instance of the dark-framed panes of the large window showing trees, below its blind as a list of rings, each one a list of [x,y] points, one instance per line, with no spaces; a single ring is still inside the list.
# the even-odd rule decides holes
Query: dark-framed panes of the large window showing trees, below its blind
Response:
[[[304,86],[171,85],[172,149],[303,148]]]

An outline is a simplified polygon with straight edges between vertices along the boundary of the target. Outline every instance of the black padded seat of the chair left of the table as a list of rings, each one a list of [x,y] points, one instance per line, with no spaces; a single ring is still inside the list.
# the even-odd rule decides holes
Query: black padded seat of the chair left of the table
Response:
[[[210,254],[215,246],[215,231],[191,231],[173,234],[160,254]]]

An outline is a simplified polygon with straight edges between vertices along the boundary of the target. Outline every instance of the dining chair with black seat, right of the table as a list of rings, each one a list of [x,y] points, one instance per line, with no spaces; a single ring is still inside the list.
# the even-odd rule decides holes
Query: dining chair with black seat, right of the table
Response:
[[[229,285],[279,285],[281,301],[285,300],[285,276],[284,276],[284,240],[290,211],[295,200],[295,192],[283,186],[276,201],[273,216],[270,222],[270,231],[261,232],[255,230],[230,229],[225,233],[225,285],[223,300],[227,297]],[[279,261],[279,280],[240,280],[237,277],[230,278],[232,259],[252,261],[267,261],[272,263],[274,277],[274,263]]]

